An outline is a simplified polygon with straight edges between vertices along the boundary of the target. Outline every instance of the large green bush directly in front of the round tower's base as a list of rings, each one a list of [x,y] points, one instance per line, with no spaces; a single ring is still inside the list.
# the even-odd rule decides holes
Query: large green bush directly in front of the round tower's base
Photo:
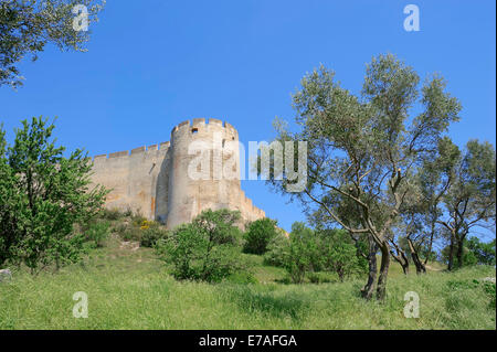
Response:
[[[239,212],[203,211],[191,224],[180,225],[159,239],[157,254],[172,265],[178,279],[219,282],[240,269],[239,231],[234,226],[239,218]]]

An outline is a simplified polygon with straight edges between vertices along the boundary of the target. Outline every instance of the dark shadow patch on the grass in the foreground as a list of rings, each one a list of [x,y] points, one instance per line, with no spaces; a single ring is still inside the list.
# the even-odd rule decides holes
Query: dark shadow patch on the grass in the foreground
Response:
[[[230,294],[242,310],[260,311],[276,318],[289,317],[299,320],[310,306],[308,299],[294,292],[281,295],[276,291],[260,292],[250,286],[239,286],[231,288]]]

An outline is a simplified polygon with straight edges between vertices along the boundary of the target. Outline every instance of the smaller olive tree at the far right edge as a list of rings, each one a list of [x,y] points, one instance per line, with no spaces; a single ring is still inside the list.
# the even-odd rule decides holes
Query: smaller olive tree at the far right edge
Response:
[[[452,170],[452,184],[443,196],[444,216],[437,220],[448,237],[448,270],[464,265],[464,243],[474,227],[495,228],[496,154],[488,142],[470,140]]]

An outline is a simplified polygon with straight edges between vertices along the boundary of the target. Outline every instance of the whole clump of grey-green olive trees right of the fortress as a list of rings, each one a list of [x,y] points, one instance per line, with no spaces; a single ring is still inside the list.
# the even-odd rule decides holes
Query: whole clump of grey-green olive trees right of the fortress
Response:
[[[435,242],[448,243],[448,270],[463,267],[473,228],[495,230],[495,148],[469,140],[461,151],[452,142],[446,134],[462,106],[440,75],[420,84],[412,67],[387,54],[367,65],[360,94],[335,76],[320,66],[302,79],[293,95],[297,128],[275,120],[277,137],[256,170],[300,202],[314,226],[338,226],[367,244],[367,299],[384,299],[392,257],[404,271],[412,262],[425,273]],[[302,141],[306,158],[295,150]],[[269,149],[271,160],[261,160]],[[294,166],[305,174],[284,178]],[[303,180],[302,192],[288,191]]]

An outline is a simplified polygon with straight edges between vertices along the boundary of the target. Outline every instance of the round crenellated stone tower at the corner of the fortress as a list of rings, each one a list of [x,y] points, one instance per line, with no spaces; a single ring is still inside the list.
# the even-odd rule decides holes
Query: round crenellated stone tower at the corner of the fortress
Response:
[[[205,209],[240,209],[239,134],[230,124],[204,118],[171,131],[167,226],[189,223]]]

